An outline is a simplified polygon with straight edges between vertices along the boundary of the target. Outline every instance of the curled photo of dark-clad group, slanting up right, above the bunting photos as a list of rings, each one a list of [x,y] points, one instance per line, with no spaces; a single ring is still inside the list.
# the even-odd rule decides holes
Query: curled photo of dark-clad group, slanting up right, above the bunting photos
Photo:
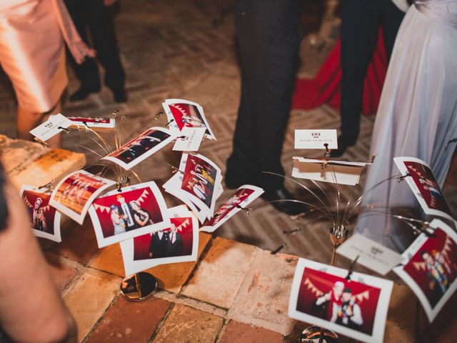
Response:
[[[102,159],[129,170],[169,144],[176,136],[169,129],[151,127]]]

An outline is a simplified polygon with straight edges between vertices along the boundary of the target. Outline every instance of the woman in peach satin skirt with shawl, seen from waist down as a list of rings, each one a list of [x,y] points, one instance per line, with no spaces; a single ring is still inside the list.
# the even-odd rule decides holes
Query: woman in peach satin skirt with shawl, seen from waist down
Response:
[[[20,139],[49,114],[60,111],[68,83],[64,39],[76,63],[94,56],[79,37],[61,0],[0,1],[0,64],[18,101],[16,130]],[[60,136],[47,141],[60,145]]]

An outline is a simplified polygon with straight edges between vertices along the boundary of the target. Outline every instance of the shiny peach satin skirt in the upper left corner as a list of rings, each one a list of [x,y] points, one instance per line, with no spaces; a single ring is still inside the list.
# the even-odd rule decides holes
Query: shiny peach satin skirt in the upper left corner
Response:
[[[0,64],[22,109],[46,112],[59,101],[68,80],[51,0],[0,1]]]

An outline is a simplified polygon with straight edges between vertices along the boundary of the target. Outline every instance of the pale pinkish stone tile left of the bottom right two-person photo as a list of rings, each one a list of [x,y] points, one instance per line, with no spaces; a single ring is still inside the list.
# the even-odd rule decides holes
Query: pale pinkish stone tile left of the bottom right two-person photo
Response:
[[[297,258],[258,250],[229,317],[288,335],[295,321],[287,316]]]

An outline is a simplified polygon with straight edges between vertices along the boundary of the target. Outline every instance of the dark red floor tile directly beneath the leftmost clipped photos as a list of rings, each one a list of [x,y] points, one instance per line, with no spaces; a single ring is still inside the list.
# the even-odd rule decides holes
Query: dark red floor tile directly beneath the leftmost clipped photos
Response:
[[[49,251],[85,265],[98,250],[94,227],[88,216],[82,225],[74,223],[62,237],[62,242]]]

